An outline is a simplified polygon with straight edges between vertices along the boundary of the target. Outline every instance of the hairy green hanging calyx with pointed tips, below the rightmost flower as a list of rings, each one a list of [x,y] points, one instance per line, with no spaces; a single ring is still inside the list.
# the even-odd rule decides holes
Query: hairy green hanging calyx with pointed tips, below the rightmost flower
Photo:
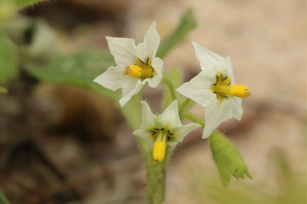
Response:
[[[227,188],[229,184],[230,175],[238,179],[244,178],[244,174],[246,174],[252,179],[239,150],[229,139],[215,130],[211,133],[209,140],[213,159],[219,170],[221,182],[225,188]]]

